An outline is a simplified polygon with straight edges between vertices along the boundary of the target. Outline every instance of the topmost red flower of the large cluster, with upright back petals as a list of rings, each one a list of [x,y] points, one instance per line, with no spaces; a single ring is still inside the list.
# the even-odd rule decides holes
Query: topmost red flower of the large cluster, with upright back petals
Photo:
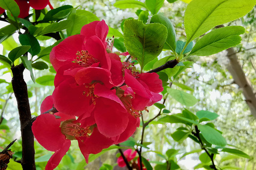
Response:
[[[94,21],[82,27],[81,34],[66,38],[55,46],[50,59],[53,68],[64,65],[77,68],[100,67],[110,70],[111,59],[106,51],[108,26],[105,21]]]

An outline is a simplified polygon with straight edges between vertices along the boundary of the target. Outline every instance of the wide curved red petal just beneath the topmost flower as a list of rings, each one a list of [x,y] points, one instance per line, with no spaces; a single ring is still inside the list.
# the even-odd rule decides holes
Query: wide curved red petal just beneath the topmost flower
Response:
[[[78,85],[90,84],[96,81],[101,81],[106,87],[111,89],[113,87],[111,83],[111,73],[104,68],[83,68],[77,71],[75,79]]]

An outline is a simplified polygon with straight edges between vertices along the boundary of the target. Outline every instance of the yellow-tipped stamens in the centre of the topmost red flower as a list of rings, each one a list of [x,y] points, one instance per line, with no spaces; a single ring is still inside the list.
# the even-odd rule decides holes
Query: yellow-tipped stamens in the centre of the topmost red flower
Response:
[[[81,52],[77,51],[77,58],[74,59],[74,62],[86,68],[94,63],[98,63],[99,60],[95,59],[93,55],[89,54],[87,50],[82,50]]]

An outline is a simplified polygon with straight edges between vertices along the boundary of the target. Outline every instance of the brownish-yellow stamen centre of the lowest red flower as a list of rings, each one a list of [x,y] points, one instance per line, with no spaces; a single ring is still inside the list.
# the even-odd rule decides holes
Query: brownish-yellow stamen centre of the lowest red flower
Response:
[[[66,136],[66,139],[77,140],[77,138],[91,134],[90,127],[80,127],[80,123],[74,123],[75,119],[68,119],[60,123],[61,133]],[[83,142],[83,140],[81,140]]]

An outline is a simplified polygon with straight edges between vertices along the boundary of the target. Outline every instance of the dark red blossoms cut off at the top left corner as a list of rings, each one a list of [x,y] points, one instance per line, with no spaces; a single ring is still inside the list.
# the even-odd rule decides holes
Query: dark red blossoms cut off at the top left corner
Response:
[[[29,7],[32,7],[34,9],[43,9],[47,5],[50,6],[51,9],[52,6],[49,2],[49,0],[15,0],[17,5],[19,6],[19,16],[20,18],[25,18],[28,16]],[[5,9],[0,8],[0,14],[4,13]]]

